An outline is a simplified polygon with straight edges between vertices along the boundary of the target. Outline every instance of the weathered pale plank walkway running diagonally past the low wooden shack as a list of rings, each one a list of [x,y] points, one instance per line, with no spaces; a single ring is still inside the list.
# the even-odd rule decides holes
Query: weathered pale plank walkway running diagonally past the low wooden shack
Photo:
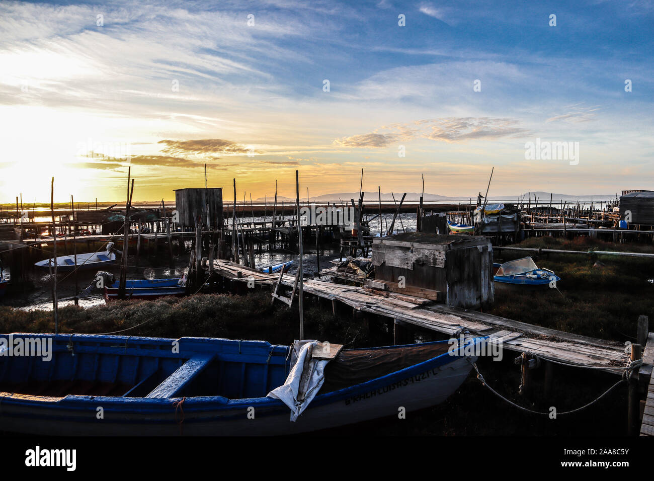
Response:
[[[230,262],[215,260],[214,272],[234,281],[254,281],[255,285],[273,286],[279,274],[264,274]],[[292,288],[295,276],[284,274],[281,283]],[[502,338],[506,349],[522,353],[531,351],[543,359],[551,359],[573,366],[605,366],[606,372],[622,375],[615,367],[626,366],[628,355],[619,342],[579,336],[545,327],[513,321],[496,315],[437,304],[428,299],[375,291],[369,287],[354,287],[319,279],[306,279],[303,290],[332,302],[342,302],[352,308],[396,319],[407,324],[434,330],[450,336],[463,329],[470,334]],[[614,369],[610,369],[614,368]]]

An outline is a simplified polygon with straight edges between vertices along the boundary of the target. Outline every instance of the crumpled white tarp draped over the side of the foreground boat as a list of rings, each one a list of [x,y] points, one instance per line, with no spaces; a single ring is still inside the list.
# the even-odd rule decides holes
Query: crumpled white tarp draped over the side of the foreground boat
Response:
[[[320,391],[324,383],[324,368],[328,360],[309,359],[307,366],[308,374],[306,386],[300,386],[304,370],[305,360],[309,355],[309,349],[320,349],[320,343],[313,340],[296,341],[292,346],[291,365],[286,382],[268,393],[268,397],[274,397],[282,401],[290,408],[290,420],[295,421],[298,416],[309,406],[309,402]],[[302,392],[300,392],[300,389]]]

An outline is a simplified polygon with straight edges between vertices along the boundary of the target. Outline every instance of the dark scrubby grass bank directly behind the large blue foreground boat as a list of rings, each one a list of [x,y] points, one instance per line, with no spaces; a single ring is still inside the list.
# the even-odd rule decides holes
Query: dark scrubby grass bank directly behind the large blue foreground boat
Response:
[[[247,297],[226,294],[198,294],[154,301],[124,300],[83,309],[60,308],[59,330],[101,334],[120,332],[126,336],[179,338],[205,336],[267,340],[290,344],[299,336],[297,308],[271,305],[270,293],[256,291]],[[51,311],[20,311],[0,306],[2,332],[54,332]],[[366,344],[360,323],[332,315],[317,299],[305,308],[305,337],[328,339],[339,344]]]

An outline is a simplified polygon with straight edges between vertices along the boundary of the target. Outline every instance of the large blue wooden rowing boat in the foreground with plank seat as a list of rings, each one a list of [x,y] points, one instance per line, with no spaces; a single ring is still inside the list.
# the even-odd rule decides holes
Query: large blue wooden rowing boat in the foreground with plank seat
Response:
[[[295,422],[279,399],[288,346],[218,338],[0,335],[0,431],[37,435],[278,435],[396,416],[444,401],[465,380],[475,338],[340,351]],[[7,346],[46,346],[6,355]],[[5,347],[2,347],[3,344]],[[466,357],[467,356],[467,357]],[[50,357],[50,360],[48,360]],[[101,418],[99,413],[101,412]]]

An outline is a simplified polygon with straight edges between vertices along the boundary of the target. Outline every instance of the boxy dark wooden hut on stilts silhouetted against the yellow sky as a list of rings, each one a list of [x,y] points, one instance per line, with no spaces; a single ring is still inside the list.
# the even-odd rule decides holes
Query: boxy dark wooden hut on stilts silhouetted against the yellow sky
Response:
[[[175,210],[177,222],[182,227],[195,227],[196,220],[201,216],[205,226],[220,228],[222,187],[175,189]]]

